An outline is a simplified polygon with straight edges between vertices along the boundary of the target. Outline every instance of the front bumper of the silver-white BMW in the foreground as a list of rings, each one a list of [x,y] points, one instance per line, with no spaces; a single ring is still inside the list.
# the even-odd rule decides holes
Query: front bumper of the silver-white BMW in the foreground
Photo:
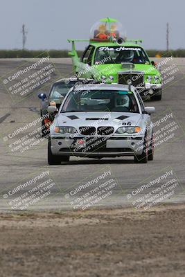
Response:
[[[54,155],[121,157],[141,155],[143,136],[51,136]]]

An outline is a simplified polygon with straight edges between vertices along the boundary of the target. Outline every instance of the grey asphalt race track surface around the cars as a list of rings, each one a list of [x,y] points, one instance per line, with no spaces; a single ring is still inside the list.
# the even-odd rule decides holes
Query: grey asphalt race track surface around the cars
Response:
[[[1,60],[0,66],[0,125],[1,125],[1,175],[0,175],[0,211],[12,212],[12,206],[18,203],[16,197],[24,199],[33,195],[36,185],[42,183],[44,178],[51,178],[53,180],[52,188],[45,190],[50,192],[43,199],[39,199],[35,204],[30,204],[28,210],[35,211],[62,211],[71,210],[75,204],[79,204],[80,200],[77,198],[87,199],[93,196],[94,204],[91,208],[112,207],[118,208],[120,206],[134,206],[134,195],[144,196],[146,193],[152,191],[152,195],[156,195],[157,189],[166,183],[166,180],[172,179],[169,176],[167,179],[160,179],[160,183],[152,184],[152,188],[148,190],[143,189],[136,195],[136,188],[140,188],[143,184],[148,184],[150,181],[164,176],[165,172],[173,170],[173,177],[178,180],[178,185],[169,191],[173,190],[171,197],[166,197],[164,202],[176,203],[184,202],[184,189],[185,189],[185,118],[184,118],[184,105],[185,105],[185,60],[174,59],[162,67],[162,69],[169,68],[170,64],[175,64],[173,68],[168,69],[170,75],[174,75],[173,80],[164,84],[163,97],[161,101],[146,101],[146,105],[155,106],[156,114],[152,115],[153,120],[164,118],[168,114],[173,114],[172,118],[168,119],[168,124],[175,121],[178,128],[175,130],[173,139],[167,139],[161,142],[155,149],[154,161],[149,161],[147,164],[136,164],[132,157],[121,157],[114,159],[87,159],[71,157],[69,163],[62,163],[60,166],[48,166],[47,164],[47,140],[38,143],[35,146],[28,148],[24,152],[11,151],[12,143],[16,143],[19,139],[24,140],[24,136],[29,134],[34,127],[26,129],[24,132],[17,134],[15,138],[4,139],[8,134],[12,134],[19,127],[24,127],[28,123],[32,123],[39,118],[39,99],[37,92],[48,90],[51,82],[58,78],[64,78],[72,74],[72,67],[69,60],[53,60],[55,65],[55,72],[52,73],[52,78],[46,82],[44,88],[35,89],[32,93],[28,93],[26,97],[19,98],[17,95],[10,95],[8,86],[4,86],[3,80],[8,75],[17,72],[19,66],[28,66],[33,62],[28,60]],[[48,64],[48,62],[46,62]],[[176,71],[173,69],[177,68]],[[33,73],[33,72],[32,72]],[[164,73],[164,74],[166,74]],[[164,76],[166,80],[168,76]],[[25,77],[25,76],[24,76]],[[23,76],[19,80],[23,80]],[[17,79],[18,80],[18,79]],[[167,123],[167,121],[166,121]],[[165,123],[164,123],[165,124]],[[38,126],[37,126],[38,127]],[[168,128],[169,129],[169,128]],[[172,131],[173,132],[173,131]],[[18,143],[18,142],[17,142]],[[36,183],[29,184],[25,188],[16,191],[13,195],[12,191],[20,184],[26,184],[27,181],[36,176],[47,172],[49,174]],[[110,170],[110,171],[109,171]],[[104,172],[110,172],[104,173]],[[105,176],[105,175],[107,176]],[[108,175],[109,174],[109,175]],[[104,179],[98,179],[97,177]],[[98,201],[97,186],[103,184],[109,179],[114,179],[114,186],[109,190],[105,190],[105,197]],[[90,183],[88,183],[90,182]],[[51,184],[51,183],[49,183]],[[82,185],[88,184],[86,188],[79,188]],[[111,184],[111,181],[110,181]],[[113,183],[112,183],[113,184]],[[33,190],[31,190],[33,189]],[[26,191],[29,194],[26,196],[23,193]],[[30,191],[31,190],[31,191]],[[99,189],[98,189],[99,190]],[[110,190],[112,193],[109,193]],[[134,194],[132,192],[134,191]],[[8,195],[11,192],[12,195]],[[76,194],[75,194],[76,193]],[[85,195],[87,193],[87,195]],[[8,196],[7,196],[8,195]],[[127,196],[128,195],[128,196]],[[131,196],[130,196],[131,195]],[[151,195],[150,195],[151,196]],[[33,197],[34,198],[34,197]],[[146,196],[147,198],[147,196]],[[76,202],[73,202],[76,200]],[[26,202],[24,202],[26,203]],[[87,203],[87,202],[86,202]],[[139,202],[141,203],[141,202]],[[78,208],[82,206],[78,206]],[[14,209],[18,209],[14,207]]]

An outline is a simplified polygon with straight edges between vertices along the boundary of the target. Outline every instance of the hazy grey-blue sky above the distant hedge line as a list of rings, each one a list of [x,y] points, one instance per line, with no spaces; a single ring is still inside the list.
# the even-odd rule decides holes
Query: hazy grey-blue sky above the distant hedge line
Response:
[[[87,39],[100,18],[121,21],[127,37],[143,39],[148,48],[185,48],[184,0],[0,0],[0,48],[21,48],[21,25],[28,30],[26,48],[70,48],[67,38]],[[83,48],[85,44],[78,44]]]

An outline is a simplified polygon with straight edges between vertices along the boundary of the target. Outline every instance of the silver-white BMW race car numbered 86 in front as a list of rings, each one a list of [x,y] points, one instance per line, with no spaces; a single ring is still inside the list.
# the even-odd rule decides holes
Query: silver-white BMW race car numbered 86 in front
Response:
[[[150,114],[136,89],[123,84],[85,84],[73,87],[50,127],[50,165],[76,157],[133,156],[136,163],[153,159]]]

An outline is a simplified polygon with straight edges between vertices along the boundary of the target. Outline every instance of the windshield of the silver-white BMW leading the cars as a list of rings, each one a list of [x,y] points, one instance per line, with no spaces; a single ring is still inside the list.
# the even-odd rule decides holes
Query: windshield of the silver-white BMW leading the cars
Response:
[[[139,113],[132,91],[78,90],[71,91],[61,112],[69,111],[122,111]]]

